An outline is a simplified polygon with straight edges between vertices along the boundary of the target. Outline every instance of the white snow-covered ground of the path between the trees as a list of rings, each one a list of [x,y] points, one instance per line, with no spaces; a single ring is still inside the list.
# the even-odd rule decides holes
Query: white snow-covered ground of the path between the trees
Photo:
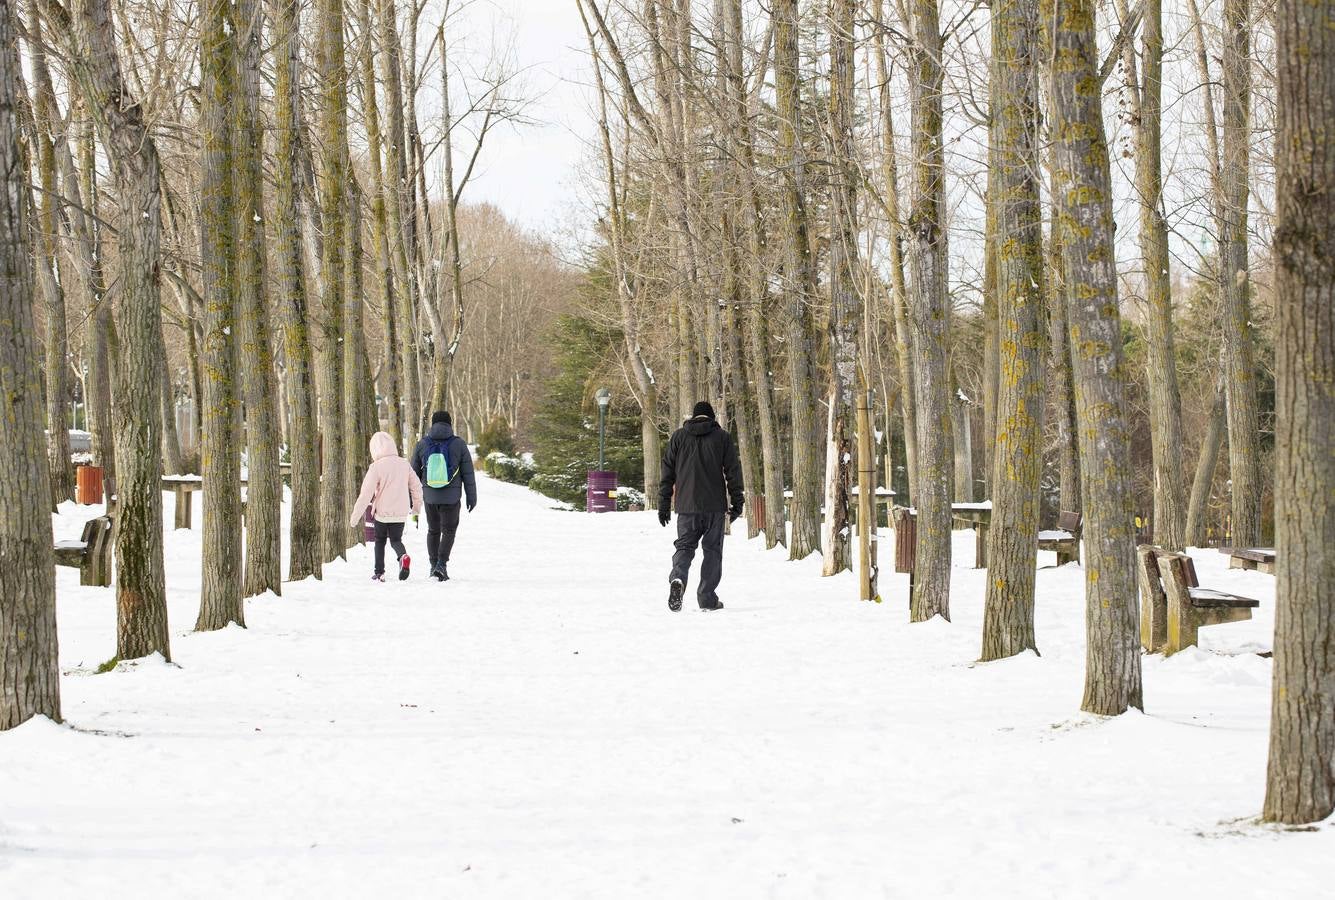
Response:
[[[953,622],[909,625],[904,576],[860,604],[741,537],[728,608],[670,614],[651,513],[485,479],[454,581],[372,585],[359,547],[192,634],[195,515],[167,534],[172,665],[95,674],[112,593],[59,570],[67,725],[0,734],[0,897],[1335,895],[1335,823],[1255,824],[1274,580],[1216,551],[1202,584],[1255,620],[1147,658],[1145,713],[1099,721],[1080,569],[1039,572],[1041,658],[976,665],[968,531]]]

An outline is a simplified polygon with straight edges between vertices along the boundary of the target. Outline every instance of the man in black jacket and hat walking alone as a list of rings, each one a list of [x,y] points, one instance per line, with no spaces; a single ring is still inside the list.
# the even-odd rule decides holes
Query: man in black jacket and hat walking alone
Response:
[[[672,518],[673,487],[677,489],[677,553],[672,558],[668,609],[681,609],[686,577],[696,547],[704,542],[697,598],[701,609],[722,609],[718,594],[724,577],[724,517],[737,521],[742,514],[742,466],[733,435],[718,426],[714,407],[701,401],[692,417],[673,433],[663,453],[658,481],[658,522]]]

